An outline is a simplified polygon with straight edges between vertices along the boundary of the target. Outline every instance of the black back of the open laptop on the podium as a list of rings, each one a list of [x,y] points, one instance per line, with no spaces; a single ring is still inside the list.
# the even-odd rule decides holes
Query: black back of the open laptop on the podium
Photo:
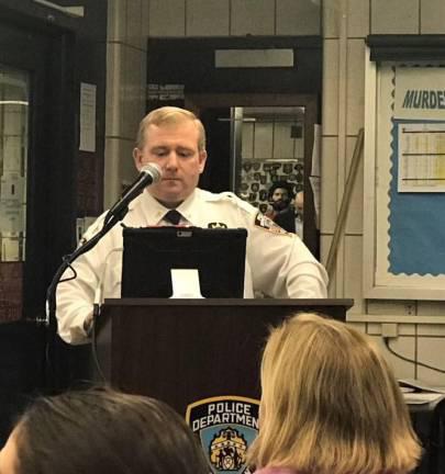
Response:
[[[197,269],[203,297],[243,297],[247,230],[123,229],[122,297],[170,297],[171,270]]]

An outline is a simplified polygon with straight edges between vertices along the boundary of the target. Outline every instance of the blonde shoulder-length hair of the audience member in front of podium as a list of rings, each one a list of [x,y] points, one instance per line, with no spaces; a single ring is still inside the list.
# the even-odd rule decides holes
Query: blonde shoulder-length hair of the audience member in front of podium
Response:
[[[274,329],[262,362],[256,467],[316,474],[407,473],[421,456],[407,405],[379,350],[315,314]]]

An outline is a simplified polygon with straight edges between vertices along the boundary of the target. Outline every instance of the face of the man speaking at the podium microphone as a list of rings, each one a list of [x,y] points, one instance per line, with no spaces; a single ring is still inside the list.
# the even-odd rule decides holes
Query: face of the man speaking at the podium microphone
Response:
[[[145,131],[143,148],[133,150],[138,170],[147,162],[160,166],[163,178],[151,185],[148,192],[167,207],[177,206],[198,185],[207,159],[207,153],[198,149],[198,140],[199,129],[192,121],[152,124]]]

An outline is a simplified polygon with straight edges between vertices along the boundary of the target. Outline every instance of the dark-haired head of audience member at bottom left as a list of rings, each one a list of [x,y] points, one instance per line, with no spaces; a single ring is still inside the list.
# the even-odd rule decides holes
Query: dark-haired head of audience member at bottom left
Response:
[[[201,448],[168,405],[109,390],[37,399],[15,428],[18,474],[207,474]]]

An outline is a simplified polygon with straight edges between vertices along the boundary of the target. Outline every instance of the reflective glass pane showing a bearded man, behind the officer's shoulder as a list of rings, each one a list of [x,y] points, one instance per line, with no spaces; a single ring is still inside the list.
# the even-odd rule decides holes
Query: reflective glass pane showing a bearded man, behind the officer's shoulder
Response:
[[[235,109],[236,194],[274,219],[278,213],[286,214],[292,219],[292,232],[302,235],[304,108]],[[278,183],[286,187],[274,195]]]

